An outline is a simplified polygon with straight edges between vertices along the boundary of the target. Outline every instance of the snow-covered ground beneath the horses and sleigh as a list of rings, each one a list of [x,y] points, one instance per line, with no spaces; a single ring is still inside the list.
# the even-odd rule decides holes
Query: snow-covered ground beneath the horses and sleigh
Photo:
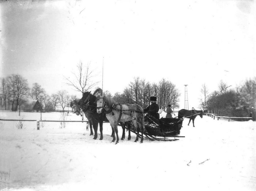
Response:
[[[40,113],[0,111],[1,119]],[[60,120],[60,113],[43,113]],[[68,120],[81,120],[69,114]],[[178,141],[126,139],[115,145],[109,123],[93,140],[86,123],[0,121],[0,190],[256,190],[256,122],[184,119]],[[121,127],[119,137],[121,137]]]

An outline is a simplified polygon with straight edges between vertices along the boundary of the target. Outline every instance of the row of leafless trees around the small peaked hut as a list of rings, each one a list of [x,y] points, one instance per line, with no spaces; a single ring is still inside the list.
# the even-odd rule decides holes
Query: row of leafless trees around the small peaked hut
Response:
[[[48,95],[38,83],[34,83],[33,87],[29,88],[27,79],[19,74],[1,78],[0,107],[2,109],[17,111],[18,106],[21,106],[23,110],[32,110],[35,101],[29,102],[29,98],[38,100],[45,111],[56,111],[57,107],[61,107],[64,111],[71,100],[77,99],[76,95],[69,95],[66,90]]]

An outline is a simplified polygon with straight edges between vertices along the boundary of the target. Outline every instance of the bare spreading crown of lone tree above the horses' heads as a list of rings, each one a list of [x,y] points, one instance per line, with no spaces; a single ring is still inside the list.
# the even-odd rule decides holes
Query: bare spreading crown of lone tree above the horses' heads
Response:
[[[84,93],[98,83],[92,81],[94,71],[90,70],[90,64],[87,64],[84,69],[83,63],[80,61],[79,64],[76,65],[76,68],[77,73],[72,73],[75,77],[74,81],[67,77],[65,78],[67,80],[67,85],[72,86],[76,91]]]

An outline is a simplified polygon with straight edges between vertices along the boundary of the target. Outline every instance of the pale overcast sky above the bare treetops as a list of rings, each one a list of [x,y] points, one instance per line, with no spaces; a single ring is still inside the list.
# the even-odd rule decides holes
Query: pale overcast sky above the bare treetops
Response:
[[[256,9],[251,0],[0,1],[0,77],[19,73],[51,94],[91,63],[103,90],[123,92],[134,77],[165,78],[189,107],[200,88],[235,87],[256,76]],[[94,91],[94,89],[92,89]]]

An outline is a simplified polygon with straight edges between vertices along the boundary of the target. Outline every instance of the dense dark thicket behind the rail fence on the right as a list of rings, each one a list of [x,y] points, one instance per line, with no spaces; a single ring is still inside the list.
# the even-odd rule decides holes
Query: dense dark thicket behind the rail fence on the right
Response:
[[[209,92],[202,85],[200,105],[204,110],[220,116],[248,117],[256,104],[256,77],[232,88],[220,81],[218,90]]]

